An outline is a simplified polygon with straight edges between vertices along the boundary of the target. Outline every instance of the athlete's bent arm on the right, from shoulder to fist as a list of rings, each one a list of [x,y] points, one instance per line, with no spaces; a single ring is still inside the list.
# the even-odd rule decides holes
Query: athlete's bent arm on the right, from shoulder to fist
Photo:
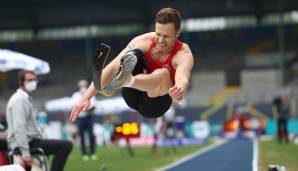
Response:
[[[182,100],[190,79],[191,70],[193,67],[193,55],[187,45],[184,49],[177,54],[174,59],[176,65],[175,85],[169,89],[169,95],[174,102]]]

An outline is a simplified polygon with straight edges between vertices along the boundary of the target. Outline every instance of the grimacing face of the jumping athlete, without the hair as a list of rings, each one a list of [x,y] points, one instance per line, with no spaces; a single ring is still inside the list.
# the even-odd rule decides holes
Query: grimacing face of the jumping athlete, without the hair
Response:
[[[175,30],[173,23],[155,24],[156,47],[165,51],[174,47],[175,42],[180,34],[180,31]]]

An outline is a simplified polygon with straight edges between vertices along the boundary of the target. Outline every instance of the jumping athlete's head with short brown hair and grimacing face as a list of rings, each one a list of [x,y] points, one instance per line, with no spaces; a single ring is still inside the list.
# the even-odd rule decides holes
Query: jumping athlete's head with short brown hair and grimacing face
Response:
[[[174,46],[180,35],[181,15],[173,8],[161,9],[155,17],[157,47],[161,50]]]

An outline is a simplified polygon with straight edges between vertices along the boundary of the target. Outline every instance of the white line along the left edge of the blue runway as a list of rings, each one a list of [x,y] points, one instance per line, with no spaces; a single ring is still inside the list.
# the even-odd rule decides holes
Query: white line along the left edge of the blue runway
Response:
[[[223,140],[223,141],[220,141],[218,143],[209,145],[209,146],[207,146],[207,147],[205,147],[205,148],[203,148],[203,149],[201,149],[201,150],[199,150],[199,151],[197,151],[197,152],[195,152],[193,154],[190,154],[189,156],[186,156],[186,157],[184,157],[184,158],[182,158],[180,160],[177,160],[176,162],[174,162],[172,164],[169,164],[167,166],[164,166],[162,168],[159,168],[156,171],[165,171],[167,169],[171,169],[173,167],[176,167],[176,166],[180,165],[181,163],[183,163],[183,162],[185,162],[187,160],[190,160],[190,159],[195,158],[195,157],[197,157],[199,155],[202,155],[202,154],[204,154],[204,153],[206,153],[208,151],[211,151],[211,150],[213,150],[213,149],[215,149],[215,148],[217,148],[217,147],[219,147],[219,146],[221,146],[221,145],[223,145],[225,143],[227,143],[227,141],[226,140]]]

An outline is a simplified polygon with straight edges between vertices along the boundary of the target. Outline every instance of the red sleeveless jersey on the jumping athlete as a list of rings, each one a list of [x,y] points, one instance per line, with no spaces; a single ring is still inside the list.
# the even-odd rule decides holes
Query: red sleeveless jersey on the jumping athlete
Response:
[[[164,62],[152,59],[151,50],[155,46],[156,46],[156,40],[155,40],[155,38],[153,38],[148,50],[146,51],[146,53],[144,55],[144,58],[145,58],[145,61],[146,61],[145,62],[145,69],[147,70],[148,73],[151,73],[156,69],[166,68],[170,72],[170,76],[171,76],[173,84],[175,84],[176,70],[172,65],[172,60],[173,60],[173,57],[177,54],[177,52],[182,48],[183,43],[180,40],[177,39],[176,42],[175,42],[175,46],[174,46],[173,50],[171,51],[168,58]]]

